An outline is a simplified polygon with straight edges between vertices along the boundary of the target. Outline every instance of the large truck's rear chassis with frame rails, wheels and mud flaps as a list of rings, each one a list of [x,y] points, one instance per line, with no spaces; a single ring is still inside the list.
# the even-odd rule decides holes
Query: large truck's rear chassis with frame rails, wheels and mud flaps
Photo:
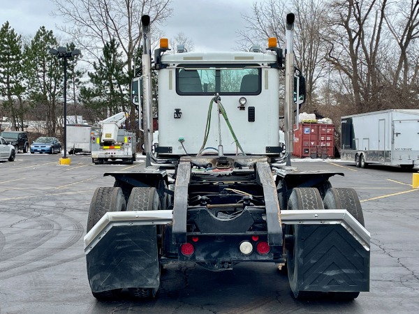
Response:
[[[96,189],[84,237],[94,296],[154,297],[161,267],[186,261],[210,271],[275,263],[297,299],[368,291],[370,235],[355,190],[330,187],[340,173],[272,172],[267,161],[182,157],[174,181],[156,166],[105,174],[115,185]]]

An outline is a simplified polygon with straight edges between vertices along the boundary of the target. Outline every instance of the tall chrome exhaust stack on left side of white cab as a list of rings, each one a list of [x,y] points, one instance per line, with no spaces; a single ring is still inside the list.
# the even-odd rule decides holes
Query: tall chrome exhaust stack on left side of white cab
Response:
[[[142,128],[144,129],[145,166],[152,165],[153,142],[153,96],[152,96],[152,48],[150,39],[150,17],[142,15]]]

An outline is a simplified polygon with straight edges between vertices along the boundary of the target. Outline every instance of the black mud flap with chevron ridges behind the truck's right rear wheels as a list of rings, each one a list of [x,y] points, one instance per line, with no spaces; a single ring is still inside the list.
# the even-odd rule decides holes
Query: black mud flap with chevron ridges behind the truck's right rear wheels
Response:
[[[298,225],[299,291],[369,291],[369,248],[341,225]]]

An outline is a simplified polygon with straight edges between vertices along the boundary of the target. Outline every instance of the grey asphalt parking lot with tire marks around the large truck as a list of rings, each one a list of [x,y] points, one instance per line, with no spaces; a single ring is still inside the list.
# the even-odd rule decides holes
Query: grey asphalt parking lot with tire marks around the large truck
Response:
[[[94,165],[91,156],[18,154],[0,162],[0,313],[419,313],[419,189],[412,173],[356,168],[337,160],[304,160],[299,170],[345,177],[335,187],[358,192],[371,232],[370,292],[351,302],[296,301],[274,264],[238,264],[210,272],[191,263],[163,271],[158,298],[99,302],[91,295],[83,251],[89,203],[104,172],[133,165]]]

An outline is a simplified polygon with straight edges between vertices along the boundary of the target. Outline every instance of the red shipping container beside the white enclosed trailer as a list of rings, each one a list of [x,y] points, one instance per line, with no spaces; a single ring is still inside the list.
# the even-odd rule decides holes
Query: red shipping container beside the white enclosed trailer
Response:
[[[293,156],[323,159],[334,157],[335,126],[314,122],[298,124],[297,130],[294,131]]]

